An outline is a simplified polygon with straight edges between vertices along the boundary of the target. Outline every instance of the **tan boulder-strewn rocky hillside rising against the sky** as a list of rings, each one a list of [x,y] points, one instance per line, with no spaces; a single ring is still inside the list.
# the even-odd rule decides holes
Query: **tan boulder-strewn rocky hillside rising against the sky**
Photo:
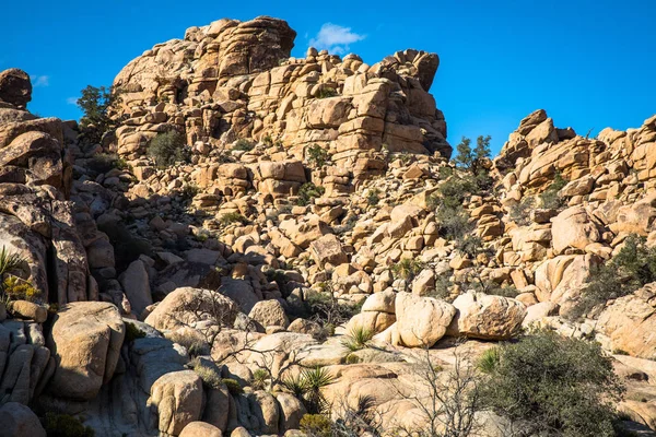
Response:
[[[437,55],[294,37],[156,45],[99,143],[0,73],[5,435],[537,435],[444,394],[536,329],[598,342],[626,433],[654,435],[656,116],[590,139],[537,110],[450,160]]]

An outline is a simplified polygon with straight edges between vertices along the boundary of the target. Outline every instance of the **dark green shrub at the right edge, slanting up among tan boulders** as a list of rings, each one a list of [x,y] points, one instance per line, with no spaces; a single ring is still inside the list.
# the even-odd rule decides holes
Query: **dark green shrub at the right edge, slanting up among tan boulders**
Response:
[[[610,261],[590,270],[590,281],[570,317],[579,318],[610,299],[626,296],[655,281],[656,248],[647,247],[643,237],[631,235]]]

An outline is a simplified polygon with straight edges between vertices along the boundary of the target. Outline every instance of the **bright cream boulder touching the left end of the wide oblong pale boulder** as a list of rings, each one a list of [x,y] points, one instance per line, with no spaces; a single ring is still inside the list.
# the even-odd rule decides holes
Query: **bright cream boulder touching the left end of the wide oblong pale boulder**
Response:
[[[431,347],[446,333],[456,308],[447,302],[398,293],[396,307],[396,335],[393,343],[408,347]]]

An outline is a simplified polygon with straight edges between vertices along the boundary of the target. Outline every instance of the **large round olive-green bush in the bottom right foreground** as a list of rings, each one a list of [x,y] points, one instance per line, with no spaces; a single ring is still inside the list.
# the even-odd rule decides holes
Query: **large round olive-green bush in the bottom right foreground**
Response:
[[[614,436],[611,401],[622,387],[599,344],[536,332],[493,358],[481,400],[524,435]]]

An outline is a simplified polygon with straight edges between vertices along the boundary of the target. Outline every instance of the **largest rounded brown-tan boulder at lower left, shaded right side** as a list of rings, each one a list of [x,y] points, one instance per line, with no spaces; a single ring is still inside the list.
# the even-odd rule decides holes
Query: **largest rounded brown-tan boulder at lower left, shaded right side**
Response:
[[[60,308],[48,334],[57,368],[50,392],[72,400],[94,399],[114,376],[126,335],[118,309],[104,302],[79,302]]]

